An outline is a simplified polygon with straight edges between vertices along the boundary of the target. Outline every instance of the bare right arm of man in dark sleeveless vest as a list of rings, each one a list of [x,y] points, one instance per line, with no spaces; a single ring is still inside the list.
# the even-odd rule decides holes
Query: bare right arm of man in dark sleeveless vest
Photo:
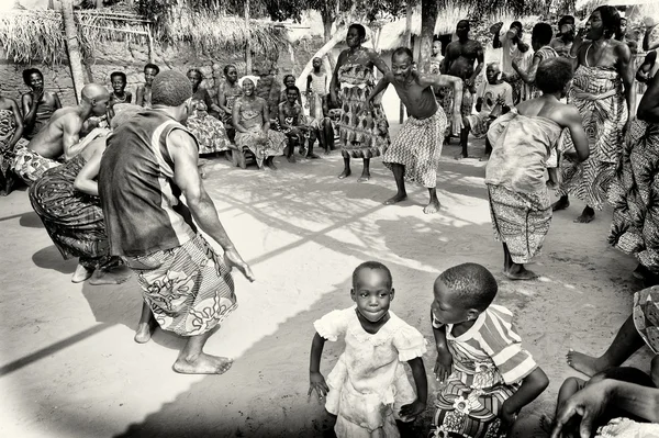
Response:
[[[201,182],[197,161],[199,157],[197,141],[187,132],[175,130],[167,137],[167,147],[174,161],[174,180],[186,196],[192,217],[199,227],[222,247],[224,261],[228,268],[237,268],[248,280],[254,281],[252,269],[243,261],[228,238],[213,200]]]

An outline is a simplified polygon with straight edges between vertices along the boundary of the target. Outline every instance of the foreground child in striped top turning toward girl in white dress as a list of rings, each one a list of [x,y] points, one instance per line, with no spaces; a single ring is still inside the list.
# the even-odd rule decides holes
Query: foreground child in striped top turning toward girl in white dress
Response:
[[[492,273],[477,263],[435,280],[435,372],[446,383],[435,402],[435,437],[503,437],[549,384],[522,348],[511,311],[492,304],[496,290]]]

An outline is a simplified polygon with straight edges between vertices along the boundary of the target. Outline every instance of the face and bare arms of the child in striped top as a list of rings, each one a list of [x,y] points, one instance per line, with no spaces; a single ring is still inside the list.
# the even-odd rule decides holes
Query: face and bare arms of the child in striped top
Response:
[[[437,363],[435,374],[437,380],[446,380],[453,372],[453,357],[446,344],[446,325],[453,324],[451,335],[459,337],[467,333],[482,311],[463,305],[463,300],[438,278],[434,285],[435,300],[432,312],[439,322],[442,328],[433,327],[435,345],[437,347]],[[549,385],[547,374],[538,367],[522,380],[522,385],[510,398],[503,402],[500,413],[504,428],[510,428],[516,420],[520,411],[537,398]]]

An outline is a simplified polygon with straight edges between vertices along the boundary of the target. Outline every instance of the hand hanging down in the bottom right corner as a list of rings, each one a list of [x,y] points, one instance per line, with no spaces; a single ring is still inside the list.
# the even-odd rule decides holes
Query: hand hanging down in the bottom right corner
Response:
[[[610,385],[611,382],[606,380],[594,383],[568,398],[556,414],[551,438],[559,438],[563,426],[574,416],[581,416],[581,425],[579,426],[581,437],[590,437],[593,424],[602,416],[611,402]]]

